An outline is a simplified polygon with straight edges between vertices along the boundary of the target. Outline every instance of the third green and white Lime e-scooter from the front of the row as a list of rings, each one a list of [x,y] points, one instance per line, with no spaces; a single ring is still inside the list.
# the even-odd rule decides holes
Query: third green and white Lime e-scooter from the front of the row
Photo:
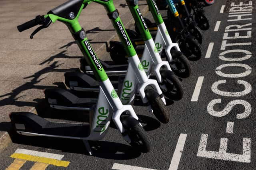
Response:
[[[150,35],[150,31],[148,30],[147,25],[144,22],[144,19],[140,12],[138,4],[136,4],[137,1],[127,0],[126,2],[132,13],[132,16],[134,17],[136,25],[138,25],[140,29],[140,33],[145,42],[144,52],[141,57],[141,63],[142,63],[141,69],[144,69],[148,76],[150,76],[150,74],[152,73],[156,76],[156,79],[158,80],[158,84],[160,85],[166,97],[173,100],[180,100],[183,96],[183,89],[181,86],[181,82],[172,72],[169,63],[167,61],[161,60],[159,51],[157,50],[156,45]],[[170,53],[170,49],[169,49],[169,53]],[[106,71],[107,71],[107,68],[106,68]],[[123,70],[120,70],[121,74],[122,74],[122,71]],[[118,72],[119,70],[115,71],[116,74],[118,74]],[[110,73],[112,73],[112,70],[110,71]],[[126,76],[130,78],[134,77],[134,75],[129,72],[129,69],[126,72]],[[78,78],[78,79],[81,80],[81,78]],[[67,77],[65,78],[65,80],[67,80]],[[73,81],[74,79],[72,80],[72,82]],[[71,89],[72,88],[74,89],[74,86],[71,87]],[[124,91],[126,91],[126,89],[127,87],[123,86],[120,94],[121,100],[122,99],[127,100],[126,98],[122,98],[125,93]]]

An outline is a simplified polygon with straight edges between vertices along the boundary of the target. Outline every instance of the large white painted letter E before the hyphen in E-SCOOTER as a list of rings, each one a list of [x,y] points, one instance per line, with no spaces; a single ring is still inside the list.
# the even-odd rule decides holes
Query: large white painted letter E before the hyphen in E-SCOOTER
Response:
[[[243,153],[235,154],[235,153],[227,153],[228,148],[228,139],[220,138],[220,148],[219,151],[210,151],[206,150],[208,134],[202,134],[197,156],[204,158],[212,158],[212,159],[221,159],[221,160],[231,160],[236,162],[251,162],[251,139],[243,138]]]

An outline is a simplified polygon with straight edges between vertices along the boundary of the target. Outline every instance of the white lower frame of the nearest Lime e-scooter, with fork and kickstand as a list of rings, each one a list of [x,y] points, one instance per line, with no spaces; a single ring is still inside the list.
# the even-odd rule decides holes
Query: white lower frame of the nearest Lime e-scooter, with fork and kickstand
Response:
[[[120,133],[124,133],[125,129],[120,121],[120,116],[122,113],[126,112],[134,119],[138,120],[138,116],[134,112],[134,109],[131,105],[123,105],[120,99],[118,98],[115,90],[109,79],[104,82],[100,82],[100,92],[98,96],[98,101],[96,108],[94,110],[94,116],[92,122],[90,122],[90,135],[88,137],[71,137],[71,136],[61,136],[61,135],[47,135],[47,134],[38,134],[25,131],[17,131],[17,133],[26,135],[26,136],[44,136],[44,137],[58,137],[58,138],[67,138],[67,139],[80,139],[84,141],[86,149],[89,154],[92,155],[92,150],[88,144],[89,141],[98,141],[105,137],[107,133],[108,126],[110,124],[110,119],[112,117],[116,127]],[[141,124],[140,124],[141,125]],[[16,128],[22,126],[16,124]],[[142,125],[141,125],[142,126]],[[130,137],[126,134],[123,136],[124,140],[128,143],[131,142]]]

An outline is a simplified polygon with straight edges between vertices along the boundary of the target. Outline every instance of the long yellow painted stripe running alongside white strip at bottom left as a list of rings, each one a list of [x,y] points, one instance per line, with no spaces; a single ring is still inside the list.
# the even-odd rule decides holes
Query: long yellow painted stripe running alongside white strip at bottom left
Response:
[[[63,166],[63,167],[67,167],[70,164],[70,162],[64,161],[64,160],[44,158],[44,157],[40,157],[40,156],[32,156],[32,155],[22,154],[22,153],[14,153],[10,157],[29,160],[29,161],[33,161],[33,162],[42,162],[42,163],[46,163],[46,164],[51,164],[51,165],[55,165],[55,166]]]

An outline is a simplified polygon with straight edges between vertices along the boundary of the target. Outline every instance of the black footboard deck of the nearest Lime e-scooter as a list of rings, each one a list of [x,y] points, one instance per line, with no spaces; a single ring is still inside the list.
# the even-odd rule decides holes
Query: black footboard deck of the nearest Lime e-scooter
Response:
[[[10,114],[10,119],[17,131],[66,137],[90,135],[89,124],[50,122],[30,112],[13,112]]]

